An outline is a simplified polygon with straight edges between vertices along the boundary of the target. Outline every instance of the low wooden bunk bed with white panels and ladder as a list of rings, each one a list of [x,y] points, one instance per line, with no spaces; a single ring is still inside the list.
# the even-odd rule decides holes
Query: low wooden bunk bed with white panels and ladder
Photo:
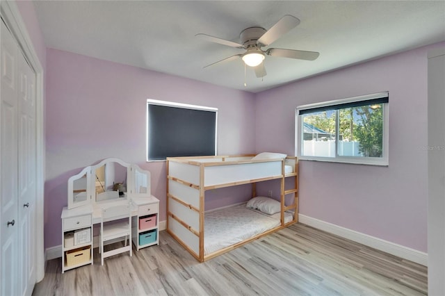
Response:
[[[281,158],[277,158],[275,154],[268,154],[266,158],[259,157],[264,154],[167,158],[167,231],[198,261],[207,261],[298,222],[298,158],[286,157],[284,154]],[[211,240],[214,238],[220,240],[222,236],[230,233],[234,227],[243,222],[236,222],[234,225],[232,221],[229,231],[222,232],[220,235],[216,232],[218,230],[209,228],[212,223],[216,228],[222,227],[218,223],[223,223],[221,221],[227,215],[232,215],[232,212],[221,213],[219,217],[218,213],[213,211],[204,213],[206,190],[252,183],[252,194],[255,197],[255,183],[274,179],[279,179],[281,183],[280,202],[273,201],[279,203],[277,205],[279,213],[275,215],[251,214],[250,212],[254,211],[245,205],[233,208],[234,213],[238,213],[234,215],[241,215],[238,217],[240,221],[243,220],[243,215],[246,215],[244,219],[246,221],[251,222],[258,216],[259,220],[268,220],[265,222],[269,223],[275,216],[274,223],[268,224],[268,227],[264,229],[252,230],[252,233],[246,236],[241,233],[240,238],[236,238],[236,242],[227,238],[225,242],[216,243],[216,247],[211,245],[213,243]],[[292,181],[292,189],[284,189],[286,181]],[[293,202],[289,205],[285,204],[286,196],[293,197]],[[245,213],[243,211],[249,211],[249,213],[243,214]],[[257,216],[250,217],[250,215]],[[215,216],[214,220],[211,220],[212,216]],[[232,217],[228,220],[232,220]],[[257,223],[250,223],[250,225],[254,224]],[[248,229],[249,227],[246,226],[249,225],[244,226]],[[212,238],[210,238],[210,233],[213,233]]]

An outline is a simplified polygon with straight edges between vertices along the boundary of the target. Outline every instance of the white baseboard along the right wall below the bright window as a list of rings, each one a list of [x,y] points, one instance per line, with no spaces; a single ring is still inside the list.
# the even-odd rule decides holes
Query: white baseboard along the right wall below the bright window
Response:
[[[337,236],[341,236],[342,238],[347,238],[348,240],[359,242],[363,245],[378,249],[382,252],[386,252],[391,255],[398,256],[424,266],[428,266],[428,254],[417,251],[416,249],[404,247],[403,245],[397,245],[394,242],[375,238],[364,233],[353,231],[351,229],[340,227],[338,225],[331,224],[329,222],[318,220],[302,214],[298,214],[298,222],[307,224],[316,229],[327,231]]]

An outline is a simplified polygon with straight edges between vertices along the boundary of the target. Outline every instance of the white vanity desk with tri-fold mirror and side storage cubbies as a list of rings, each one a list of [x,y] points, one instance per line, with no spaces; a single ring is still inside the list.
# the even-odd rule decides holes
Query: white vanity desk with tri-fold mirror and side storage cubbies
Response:
[[[149,172],[118,158],[107,158],[72,176],[68,206],[61,215],[62,272],[92,264],[93,225],[100,224],[102,208],[108,206],[131,205],[131,239],[137,250],[159,245],[159,199],[150,191]],[[99,200],[104,192],[106,199]]]

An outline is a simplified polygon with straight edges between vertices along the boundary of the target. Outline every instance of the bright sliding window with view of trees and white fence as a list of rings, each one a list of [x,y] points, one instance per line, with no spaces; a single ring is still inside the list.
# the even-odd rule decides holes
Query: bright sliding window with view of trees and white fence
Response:
[[[298,106],[302,160],[388,165],[388,92]]]

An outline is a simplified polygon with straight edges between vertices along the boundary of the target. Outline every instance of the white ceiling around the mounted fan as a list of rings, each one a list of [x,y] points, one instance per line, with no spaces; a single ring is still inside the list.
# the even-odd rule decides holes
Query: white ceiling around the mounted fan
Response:
[[[445,40],[445,1],[34,1],[49,48],[259,92]],[[203,69],[242,49],[245,28],[270,28],[284,15],[300,24],[270,47],[318,51],[317,60],[266,56],[267,76],[241,59]],[[244,86],[246,80],[247,86]]]

